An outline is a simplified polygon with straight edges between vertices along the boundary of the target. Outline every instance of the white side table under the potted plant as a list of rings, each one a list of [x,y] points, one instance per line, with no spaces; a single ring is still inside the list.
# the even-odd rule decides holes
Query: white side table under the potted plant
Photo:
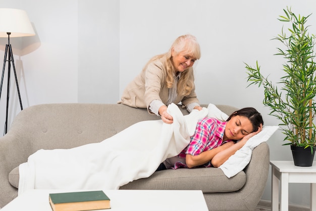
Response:
[[[310,210],[316,211],[316,165],[294,166],[293,161],[270,161],[272,167],[272,210],[279,210],[279,182],[281,182],[280,210],[289,208],[289,183],[310,183]]]

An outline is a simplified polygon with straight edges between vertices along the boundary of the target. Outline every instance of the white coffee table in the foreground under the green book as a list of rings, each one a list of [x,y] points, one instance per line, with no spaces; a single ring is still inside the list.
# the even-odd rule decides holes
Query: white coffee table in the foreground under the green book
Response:
[[[74,191],[74,190],[73,190]],[[103,190],[111,199],[104,210],[208,210],[201,190]],[[49,193],[69,190],[29,190],[4,206],[1,211],[51,211]]]

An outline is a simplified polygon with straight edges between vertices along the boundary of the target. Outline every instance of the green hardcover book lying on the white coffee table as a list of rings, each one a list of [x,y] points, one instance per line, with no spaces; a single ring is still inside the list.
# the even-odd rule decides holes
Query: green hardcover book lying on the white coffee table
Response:
[[[111,208],[110,198],[101,190],[50,193],[49,203],[54,211],[79,211]]]

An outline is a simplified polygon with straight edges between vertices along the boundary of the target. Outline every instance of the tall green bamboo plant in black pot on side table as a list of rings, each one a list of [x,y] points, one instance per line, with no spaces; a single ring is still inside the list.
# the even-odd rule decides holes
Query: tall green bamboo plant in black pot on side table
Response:
[[[281,121],[281,131],[285,135],[283,145],[291,145],[294,165],[311,166],[314,157],[316,127],[316,66],[314,64],[315,35],[309,35],[307,19],[292,13],[291,8],[284,9],[284,15],[279,21],[289,24],[290,28],[283,30],[274,40],[282,43],[284,48],[277,48],[278,53],[285,59],[284,75],[278,84],[274,84],[260,73],[260,66],[246,65],[248,82],[264,87],[264,105],[270,108],[270,115]],[[296,152],[304,153],[296,157]],[[307,157],[306,157],[307,156]],[[309,159],[309,161],[306,161]]]

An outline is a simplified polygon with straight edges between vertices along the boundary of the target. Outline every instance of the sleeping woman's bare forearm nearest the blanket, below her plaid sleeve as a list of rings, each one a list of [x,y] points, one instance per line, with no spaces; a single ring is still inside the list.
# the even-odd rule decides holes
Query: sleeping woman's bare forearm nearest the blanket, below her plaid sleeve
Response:
[[[219,147],[207,150],[207,151],[203,151],[198,155],[193,156],[192,154],[186,154],[185,156],[185,162],[188,168],[193,168],[196,166],[200,166],[203,165],[207,162],[209,162],[210,160],[212,160],[214,158],[214,156],[216,154],[218,154],[219,152],[232,147],[234,144],[233,141],[229,141]]]

